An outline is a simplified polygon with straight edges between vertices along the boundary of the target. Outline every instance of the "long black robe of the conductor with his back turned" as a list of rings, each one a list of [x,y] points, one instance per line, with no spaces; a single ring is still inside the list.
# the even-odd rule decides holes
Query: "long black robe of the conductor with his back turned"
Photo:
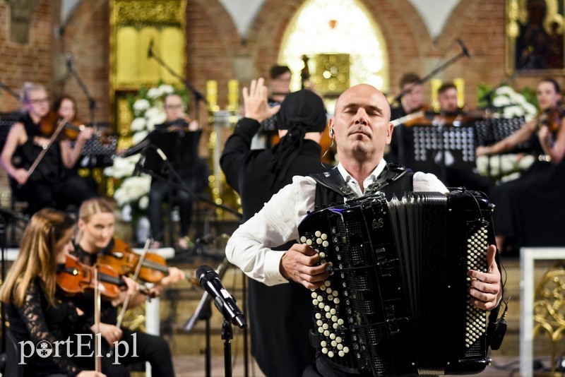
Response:
[[[220,159],[227,183],[242,198],[243,221],[253,217],[271,196],[290,184],[292,176],[307,176],[331,168],[320,162],[320,145],[304,140],[300,154],[283,180],[271,186],[273,173],[267,167],[273,152],[250,149],[259,126],[254,119],[240,120]],[[277,249],[282,252],[289,247]],[[295,282],[268,287],[252,279],[248,281],[251,354],[266,376],[302,376],[316,356],[308,336],[312,321],[311,292]]]

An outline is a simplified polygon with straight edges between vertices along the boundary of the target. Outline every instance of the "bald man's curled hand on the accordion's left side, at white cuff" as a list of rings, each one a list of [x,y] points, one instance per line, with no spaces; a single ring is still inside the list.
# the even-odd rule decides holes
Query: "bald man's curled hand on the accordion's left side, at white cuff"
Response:
[[[294,244],[280,260],[280,273],[309,289],[320,287],[330,275],[326,262],[307,244]]]

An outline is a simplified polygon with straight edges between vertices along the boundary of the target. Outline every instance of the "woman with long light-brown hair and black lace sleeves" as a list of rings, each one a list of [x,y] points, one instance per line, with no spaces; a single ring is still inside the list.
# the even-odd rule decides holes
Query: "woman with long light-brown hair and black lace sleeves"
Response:
[[[56,293],[57,263],[64,263],[73,250],[74,229],[69,215],[48,208],[35,213],[25,229],[18,258],[0,289],[16,342],[30,341],[35,348],[38,342],[47,341],[55,347],[56,341],[89,331],[81,327],[73,302]],[[76,345],[76,339],[73,342]],[[59,349],[59,357],[39,357],[34,352],[22,367],[23,376],[105,376],[81,369],[67,356],[66,347]]]

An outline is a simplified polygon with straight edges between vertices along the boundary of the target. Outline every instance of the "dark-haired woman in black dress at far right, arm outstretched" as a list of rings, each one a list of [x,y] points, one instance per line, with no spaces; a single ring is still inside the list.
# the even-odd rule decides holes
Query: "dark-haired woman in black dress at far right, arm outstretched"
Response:
[[[565,232],[565,115],[561,91],[554,78],[537,83],[540,114],[523,124],[511,136],[487,147],[477,148],[477,155],[511,152],[529,142],[534,163],[520,178],[492,191],[496,205],[494,225],[497,244],[504,250],[505,241],[521,246],[563,246]]]

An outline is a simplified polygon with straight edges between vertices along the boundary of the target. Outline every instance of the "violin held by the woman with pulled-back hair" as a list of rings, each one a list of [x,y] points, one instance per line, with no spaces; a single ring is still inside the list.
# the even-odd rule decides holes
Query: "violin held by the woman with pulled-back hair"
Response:
[[[131,246],[120,239],[110,241],[107,249],[97,258],[98,263],[114,268],[119,275],[129,275],[136,270],[140,256],[131,249]],[[165,258],[156,253],[147,253],[139,270],[139,278],[145,282],[159,282],[169,275],[169,267]],[[191,280],[191,275],[184,273],[186,280]]]

